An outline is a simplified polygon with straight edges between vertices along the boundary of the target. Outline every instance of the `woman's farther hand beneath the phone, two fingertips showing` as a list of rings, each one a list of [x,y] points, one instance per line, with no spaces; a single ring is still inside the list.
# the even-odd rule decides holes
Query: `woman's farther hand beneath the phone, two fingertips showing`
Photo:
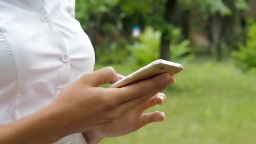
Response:
[[[172,79],[174,82],[174,79]],[[164,112],[143,112],[152,106],[157,104],[164,104],[166,101],[166,96],[163,93],[156,94],[153,98],[139,105],[135,110],[132,110],[125,115],[117,118],[113,123],[108,125],[101,125],[91,130],[85,131],[83,133],[86,141],[89,144],[98,143],[103,137],[117,137],[121,135],[126,135],[142,128],[152,122],[164,121]]]

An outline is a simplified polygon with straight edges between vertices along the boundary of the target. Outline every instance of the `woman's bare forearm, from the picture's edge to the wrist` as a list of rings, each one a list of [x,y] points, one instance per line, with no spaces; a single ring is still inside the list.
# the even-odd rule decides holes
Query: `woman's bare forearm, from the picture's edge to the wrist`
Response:
[[[0,143],[53,143],[65,135],[65,123],[45,106],[36,113],[0,126]]]

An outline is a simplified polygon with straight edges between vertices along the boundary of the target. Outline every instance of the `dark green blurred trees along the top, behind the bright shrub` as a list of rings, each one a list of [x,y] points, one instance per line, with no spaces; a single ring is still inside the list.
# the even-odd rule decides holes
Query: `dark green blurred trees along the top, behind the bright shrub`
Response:
[[[97,51],[111,51],[110,47],[125,50],[125,45],[136,41],[131,37],[132,27],[136,25],[142,32],[147,26],[160,31],[162,41],[166,42],[160,43],[160,47],[173,43],[174,29],[181,29],[181,39],[175,41],[176,44],[194,38],[191,33],[201,35],[208,43],[203,51],[218,59],[224,52],[229,54],[238,50],[238,44],[245,43],[247,17],[244,13],[252,9],[248,4],[251,0],[175,1],[175,7],[166,10],[170,9],[166,7],[167,2],[174,0],[77,0],[75,17]],[[200,47],[191,45],[193,49]]]

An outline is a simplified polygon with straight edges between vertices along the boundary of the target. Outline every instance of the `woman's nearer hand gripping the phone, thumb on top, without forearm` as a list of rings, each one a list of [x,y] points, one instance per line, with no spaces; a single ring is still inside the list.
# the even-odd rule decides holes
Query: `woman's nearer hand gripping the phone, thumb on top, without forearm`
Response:
[[[90,128],[110,124],[171,84],[169,74],[134,83],[122,88],[98,87],[118,81],[112,67],[86,74],[74,81],[49,104],[55,118],[65,125],[65,135],[79,133]]]

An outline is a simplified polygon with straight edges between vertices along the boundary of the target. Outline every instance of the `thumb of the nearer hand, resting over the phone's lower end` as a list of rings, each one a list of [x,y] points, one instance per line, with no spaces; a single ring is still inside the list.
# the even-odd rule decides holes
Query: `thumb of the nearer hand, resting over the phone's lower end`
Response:
[[[113,83],[119,80],[117,73],[115,73],[112,67],[106,67],[94,71],[89,75],[85,75],[83,79],[86,83],[89,83],[91,86],[95,87],[98,87],[105,83]]]

